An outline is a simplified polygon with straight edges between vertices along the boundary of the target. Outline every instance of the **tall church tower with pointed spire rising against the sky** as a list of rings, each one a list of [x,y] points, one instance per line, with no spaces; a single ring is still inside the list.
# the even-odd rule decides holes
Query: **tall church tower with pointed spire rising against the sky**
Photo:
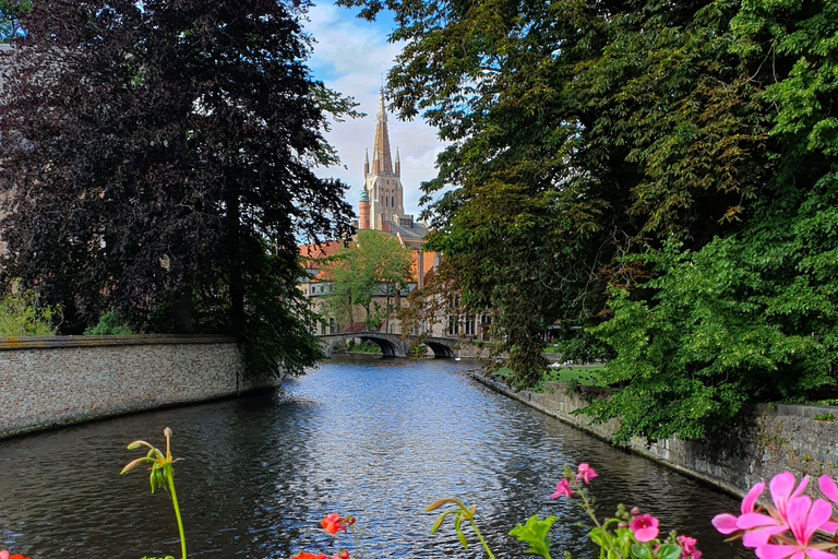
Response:
[[[384,107],[384,90],[379,93],[379,111],[375,115],[375,139],[372,146],[372,165],[369,154],[363,165],[363,193],[369,197],[369,227],[385,230],[386,222],[399,223],[405,214],[402,187],[402,162],[396,150],[395,164],[390,151],[387,111]],[[363,197],[363,194],[361,194]],[[364,209],[366,210],[366,209]],[[364,228],[361,225],[361,228]]]

